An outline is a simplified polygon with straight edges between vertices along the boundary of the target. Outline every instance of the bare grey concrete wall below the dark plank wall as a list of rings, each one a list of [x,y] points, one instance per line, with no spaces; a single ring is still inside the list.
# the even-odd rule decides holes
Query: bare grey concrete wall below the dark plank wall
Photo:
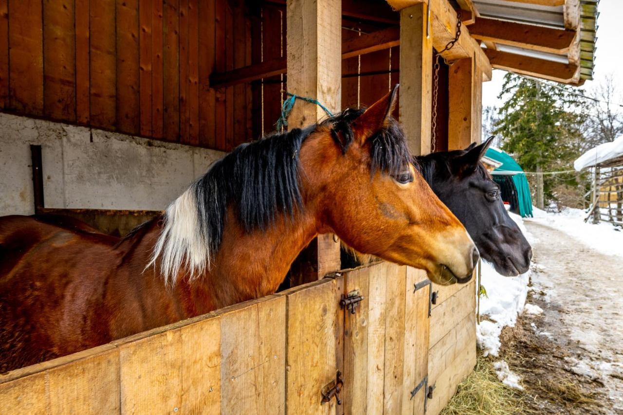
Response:
[[[0,216],[34,213],[31,144],[42,146],[45,207],[164,209],[224,155],[0,113]]]

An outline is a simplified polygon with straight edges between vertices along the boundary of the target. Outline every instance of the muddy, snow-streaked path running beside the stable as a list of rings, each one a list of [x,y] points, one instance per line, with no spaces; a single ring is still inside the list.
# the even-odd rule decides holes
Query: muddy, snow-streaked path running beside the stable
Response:
[[[576,403],[587,398],[599,404],[598,409],[589,405],[589,411],[577,408],[577,413],[623,414],[623,257],[601,254],[538,221],[525,223],[536,239],[528,303],[543,309],[540,315],[524,313],[515,330],[515,336],[523,332],[519,336],[526,340],[524,346],[533,343],[526,353],[541,354],[532,363],[524,354],[521,364],[535,364],[541,373],[533,379],[528,375],[525,382],[538,383],[533,385],[537,390],[543,376],[559,373],[561,379],[553,379],[553,386],[574,383],[579,389],[573,386],[578,390],[571,394],[581,395]],[[507,353],[521,355],[518,350]],[[576,413],[573,408],[566,409]],[[555,405],[542,409],[557,412]]]

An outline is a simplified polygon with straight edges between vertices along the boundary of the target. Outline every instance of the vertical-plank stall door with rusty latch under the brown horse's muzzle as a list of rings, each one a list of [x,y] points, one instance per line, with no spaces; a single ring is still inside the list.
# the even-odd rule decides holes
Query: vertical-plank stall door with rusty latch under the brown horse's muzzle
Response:
[[[364,297],[355,313],[345,312],[344,413],[423,414],[430,284],[420,283],[426,273],[383,262],[344,278],[346,295]]]

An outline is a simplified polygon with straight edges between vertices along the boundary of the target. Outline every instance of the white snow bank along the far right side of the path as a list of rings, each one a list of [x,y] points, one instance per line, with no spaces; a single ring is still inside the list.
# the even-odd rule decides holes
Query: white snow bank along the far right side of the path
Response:
[[[559,213],[550,213],[533,206],[532,212],[534,217],[527,219],[528,221],[545,223],[563,231],[602,254],[623,256],[623,232],[607,222],[584,222],[586,212],[582,209],[565,207]]]

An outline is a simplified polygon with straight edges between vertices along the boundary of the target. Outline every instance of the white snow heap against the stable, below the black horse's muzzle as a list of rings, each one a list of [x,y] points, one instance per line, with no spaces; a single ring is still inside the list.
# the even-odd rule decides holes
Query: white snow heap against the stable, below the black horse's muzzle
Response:
[[[526,231],[521,217],[509,214],[530,241],[531,235]],[[484,356],[498,356],[502,328],[515,326],[517,315],[523,311],[526,303],[529,281],[530,271],[517,277],[504,277],[495,272],[493,265],[482,262],[480,285],[485,287],[487,295],[480,297],[480,315],[487,316],[489,320],[477,325],[476,338]]]

